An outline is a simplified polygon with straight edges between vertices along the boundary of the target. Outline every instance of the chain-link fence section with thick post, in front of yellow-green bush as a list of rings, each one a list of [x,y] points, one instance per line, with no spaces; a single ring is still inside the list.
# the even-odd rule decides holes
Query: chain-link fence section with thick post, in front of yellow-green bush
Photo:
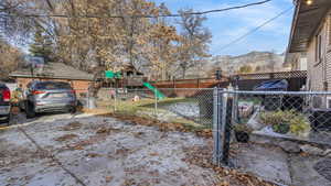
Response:
[[[214,95],[215,164],[229,164],[235,142],[331,146],[331,92],[215,89]]]

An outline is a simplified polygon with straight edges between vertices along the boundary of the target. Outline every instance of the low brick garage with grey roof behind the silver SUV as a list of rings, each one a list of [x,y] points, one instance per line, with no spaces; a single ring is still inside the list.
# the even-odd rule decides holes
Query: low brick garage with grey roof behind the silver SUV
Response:
[[[14,78],[17,84],[22,85],[23,88],[31,80],[55,80],[67,81],[74,89],[81,92],[86,91],[93,81],[92,74],[78,70],[63,63],[47,63],[34,68],[26,66],[11,73],[10,77]]]

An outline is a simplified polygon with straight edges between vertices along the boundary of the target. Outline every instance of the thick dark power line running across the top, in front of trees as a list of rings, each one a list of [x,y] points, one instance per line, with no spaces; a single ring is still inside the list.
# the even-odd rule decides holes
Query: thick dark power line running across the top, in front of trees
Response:
[[[183,14],[191,14],[191,15],[202,15],[202,14],[209,14],[209,13],[216,13],[216,12],[224,12],[224,11],[229,11],[229,10],[235,10],[235,9],[243,9],[247,7],[253,7],[253,6],[260,6],[267,2],[270,2],[271,0],[264,0],[264,1],[258,1],[258,2],[253,2],[253,3],[247,3],[243,6],[235,6],[235,7],[229,7],[229,8],[224,8],[224,9],[215,9],[215,10],[207,10],[207,11],[197,11],[197,12],[190,12],[190,13],[183,13]],[[134,14],[134,15],[66,15],[66,14],[13,14],[9,13],[7,14],[8,17],[26,17],[26,18],[97,18],[97,19],[107,19],[107,18],[177,18],[177,17],[182,17],[181,13],[177,14],[164,14],[164,15],[148,15],[148,14]]]

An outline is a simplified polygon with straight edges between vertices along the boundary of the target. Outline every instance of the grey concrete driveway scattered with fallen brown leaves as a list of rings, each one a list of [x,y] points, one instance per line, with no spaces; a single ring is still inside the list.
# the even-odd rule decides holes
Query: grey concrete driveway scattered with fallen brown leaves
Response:
[[[220,183],[214,169],[186,161],[186,150],[211,143],[193,133],[92,114],[15,120],[19,128],[0,130],[0,186]]]

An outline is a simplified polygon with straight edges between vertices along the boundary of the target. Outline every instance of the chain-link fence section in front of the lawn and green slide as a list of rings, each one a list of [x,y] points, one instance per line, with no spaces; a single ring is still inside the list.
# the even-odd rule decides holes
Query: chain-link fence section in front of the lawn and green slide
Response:
[[[76,90],[78,105],[126,116],[152,118],[163,122],[211,129],[213,89],[125,89],[102,88],[97,97]]]

